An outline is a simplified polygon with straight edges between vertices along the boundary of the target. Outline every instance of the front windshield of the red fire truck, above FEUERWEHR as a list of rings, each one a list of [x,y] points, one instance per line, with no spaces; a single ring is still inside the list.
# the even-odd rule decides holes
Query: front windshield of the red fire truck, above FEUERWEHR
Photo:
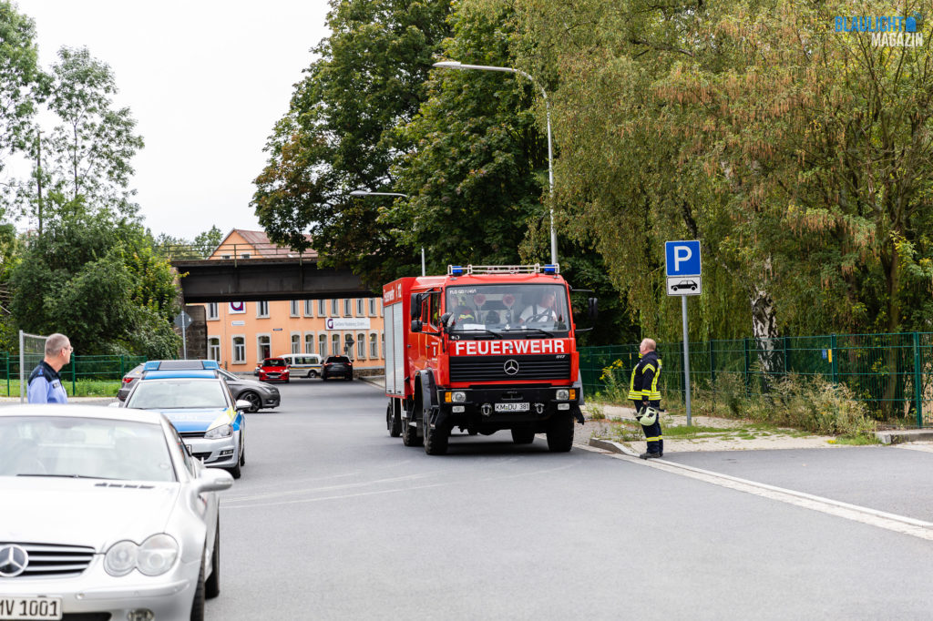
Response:
[[[512,332],[527,330],[531,338],[566,332],[570,316],[566,289],[558,284],[482,284],[448,287],[446,312],[453,332]],[[465,334],[465,337],[470,335]]]

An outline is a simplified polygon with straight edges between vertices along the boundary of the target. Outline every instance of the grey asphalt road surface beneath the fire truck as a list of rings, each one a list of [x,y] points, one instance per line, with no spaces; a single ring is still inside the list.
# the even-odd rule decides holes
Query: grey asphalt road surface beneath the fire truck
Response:
[[[924,539],[587,450],[550,454],[542,439],[516,447],[508,433],[457,436],[430,457],[386,434],[378,388],[301,380],[282,393],[282,407],[249,415],[243,478],[223,492],[222,592],[208,619],[926,618],[933,608]],[[676,459],[929,517],[928,488],[914,501],[883,490],[898,476],[910,476],[905,492],[920,483],[933,453],[772,452]]]

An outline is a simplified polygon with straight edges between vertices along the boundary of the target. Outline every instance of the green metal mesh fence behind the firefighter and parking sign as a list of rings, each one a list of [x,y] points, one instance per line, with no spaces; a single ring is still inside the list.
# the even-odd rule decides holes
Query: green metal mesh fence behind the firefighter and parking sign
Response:
[[[682,342],[658,346],[665,398],[684,400]],[[817,337],[740,338],[689,343],[690,392],[717,393],[729,377],[747,395],[767,392],[787,374],[822,376],[844,384],[883,421],[933,425],[933,333],[851,334]],[[615,377],[627,386],[638,362],[638,344],[584,347],[580,372],[588,394],[606,391],[603,370],[620,361]]]

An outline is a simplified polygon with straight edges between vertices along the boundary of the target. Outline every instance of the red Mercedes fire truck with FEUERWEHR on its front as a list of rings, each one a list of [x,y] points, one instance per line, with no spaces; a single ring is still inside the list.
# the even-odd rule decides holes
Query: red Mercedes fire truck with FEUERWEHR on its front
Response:
[[[576,335],[592,329],[574,323],[571,291],[557,265],[448,266],[384,285],[389,435],[430,455],[454,428],[508,429],[516,444],[545,433],[551,451],[570,450],[583,421]]]

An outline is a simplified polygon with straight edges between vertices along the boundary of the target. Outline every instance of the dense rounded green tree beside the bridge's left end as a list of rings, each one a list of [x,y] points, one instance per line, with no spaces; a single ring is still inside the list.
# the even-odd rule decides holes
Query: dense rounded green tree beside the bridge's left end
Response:
[[[142,227],[111,214],[52,220],[13,268],[13,319],[27,331],[63,332],[85,353],[174,356],[180,295],[152,245]]]

